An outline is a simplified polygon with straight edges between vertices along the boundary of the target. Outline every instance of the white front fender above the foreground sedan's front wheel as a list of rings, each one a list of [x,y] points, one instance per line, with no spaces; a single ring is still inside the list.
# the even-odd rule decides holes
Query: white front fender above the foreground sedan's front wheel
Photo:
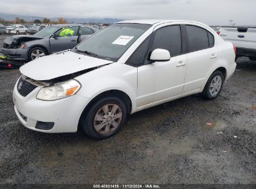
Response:
[[[123,91],[131,99],[131,113],[136,110],[137,68],[123,63],[111,63],[75,79],[82,84],[78,95],[93,99],[105,91]]]

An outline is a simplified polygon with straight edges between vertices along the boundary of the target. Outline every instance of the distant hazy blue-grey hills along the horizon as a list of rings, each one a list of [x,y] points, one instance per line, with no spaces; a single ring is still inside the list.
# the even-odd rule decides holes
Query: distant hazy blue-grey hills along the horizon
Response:
[[[12,21],[16,17],[19,17],[20,19],[24,19],[25,21],[31,21],[31,18],[33,20],[39,19],[42,20],[44,17],[40,16],[22,16],[22,15],[17,15],[17,14],[4,14],[0,13],[0,18],[5,19],[7,21]],[[52,21],[58,21],[57,17],[47,17],[47,19],[50,19]],[[86,19],[86,18],[65,18],[64,19],[68,22],[74,22],[74,23],[83,23],[83,22],[94,22],[94,23],[105,23],[105,24],[113,24],[115,22],[122,21],[121,19],[111,19],[111,18],[105,18],[105,19]]]

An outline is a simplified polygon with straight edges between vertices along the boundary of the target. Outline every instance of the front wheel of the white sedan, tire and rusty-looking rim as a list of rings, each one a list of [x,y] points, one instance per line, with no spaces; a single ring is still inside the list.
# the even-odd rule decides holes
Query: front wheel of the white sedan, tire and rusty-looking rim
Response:
[[[125,123],[125,103],[116,97],[105,97],[84,111],[80,118],[83,132],[93,139],[106,139],[118,132]]]

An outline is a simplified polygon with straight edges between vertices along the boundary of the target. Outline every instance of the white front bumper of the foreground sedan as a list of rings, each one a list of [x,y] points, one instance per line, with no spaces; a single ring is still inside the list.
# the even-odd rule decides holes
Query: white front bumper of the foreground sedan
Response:
[[[76,132],[80,115],[90,99],[75,94],[69,98],[54,101],[36,99],[42,86],[37,86],[27,96],[17,90],[17,81],[13,91],[14,110],[21,123],[40,132]]]

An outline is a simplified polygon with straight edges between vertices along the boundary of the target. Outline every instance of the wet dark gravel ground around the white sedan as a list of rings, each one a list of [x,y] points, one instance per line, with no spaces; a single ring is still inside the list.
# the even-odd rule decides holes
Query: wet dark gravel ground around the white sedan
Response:
[[[135,113],[104,141],[26,129],[12,103],[19,70],[1,69],[0,183],[255,184],[256,62],[237,63],[217,99]]]

